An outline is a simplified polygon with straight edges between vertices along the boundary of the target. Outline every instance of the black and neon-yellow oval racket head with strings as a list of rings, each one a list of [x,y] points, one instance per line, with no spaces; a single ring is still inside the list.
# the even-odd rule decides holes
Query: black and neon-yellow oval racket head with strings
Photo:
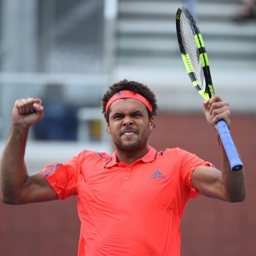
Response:
[[[185,7],[177,10],[176,30],[181,57],[192,84],[204,99],[213,97],[214,90],[203,38],[196,20]]]

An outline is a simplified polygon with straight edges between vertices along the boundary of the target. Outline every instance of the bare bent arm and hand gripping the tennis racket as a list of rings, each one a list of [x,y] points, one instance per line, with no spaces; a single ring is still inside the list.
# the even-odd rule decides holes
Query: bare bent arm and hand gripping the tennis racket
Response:
[[[241,202],[245,200],[246,195],[244,169],[236,172],[231,170],[230,162],[216,128],[218,120],[225,120],[230,129],[229,104],[215,95],[203,102],[203,109],[207,122],[213,128],[218,139],[222,170],[200,166],[192,174],[192,185],[205,196],[229,202]]]

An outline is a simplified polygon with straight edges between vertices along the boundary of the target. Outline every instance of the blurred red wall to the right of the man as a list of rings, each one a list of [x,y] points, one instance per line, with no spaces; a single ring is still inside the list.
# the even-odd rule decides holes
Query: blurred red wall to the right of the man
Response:
[[[218,143],[203,115],[159,115],[155,123],[150,144],[156,149],[181,147],[220,168]],[[181,221],[182,256],[256,255],[256,116],[233,116],[231,125],[245,166],[246,199],[189,200]]]

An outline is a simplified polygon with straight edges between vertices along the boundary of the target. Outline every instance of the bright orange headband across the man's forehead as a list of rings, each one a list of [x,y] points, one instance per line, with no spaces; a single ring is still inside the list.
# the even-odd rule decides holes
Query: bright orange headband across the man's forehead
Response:
[[[150,103],[143,96],[141,96],[140,94],[138,94],[136,92],[130,91],[130,90],[121,90],[109,99],[109,101],[106,105],[106,114],[108,113],[109,106],[114,101],[119,100],[121,98],[136,99],[136,100],[142,102],[144,105],[146,105],[151,113],[153,112],[152,106],[150,105]]]

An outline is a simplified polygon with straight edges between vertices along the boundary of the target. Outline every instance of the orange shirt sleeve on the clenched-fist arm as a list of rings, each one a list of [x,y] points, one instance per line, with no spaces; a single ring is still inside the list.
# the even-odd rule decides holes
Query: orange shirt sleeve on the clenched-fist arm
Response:
[[[76,195],[76,184],[79,173],[79,158],[71,158],[67,162],[52,162],[40,172],[58,194],[58,199],[66,199]]]

